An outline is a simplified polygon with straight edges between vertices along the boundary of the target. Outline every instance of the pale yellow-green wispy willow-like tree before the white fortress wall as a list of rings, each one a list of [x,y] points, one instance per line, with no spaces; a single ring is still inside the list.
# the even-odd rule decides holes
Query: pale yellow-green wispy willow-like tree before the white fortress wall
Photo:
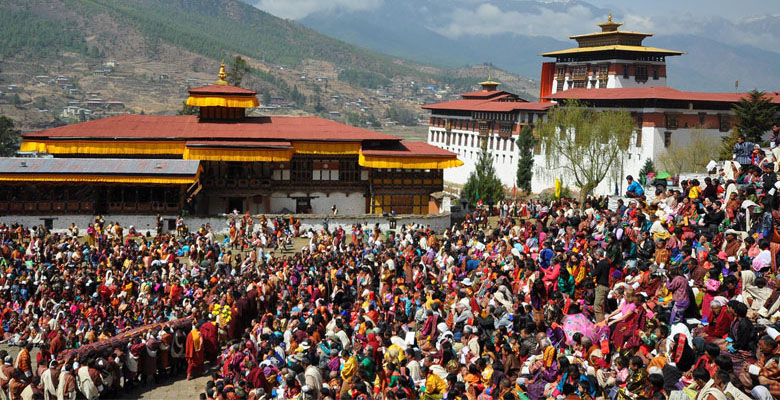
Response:
[[[547,166],[568,173],[584,200],[628,150],[634,121],[628,111],[599,112],[567,101],[536,130]]]

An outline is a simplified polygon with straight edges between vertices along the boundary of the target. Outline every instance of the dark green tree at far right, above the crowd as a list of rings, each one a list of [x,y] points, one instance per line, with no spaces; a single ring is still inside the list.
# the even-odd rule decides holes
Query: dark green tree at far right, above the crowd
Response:
[[[772,128],[777,108],[765,92],[753,89],[732,107],[737,117],[737,128],[745,140],[760,143],[764,133]]]

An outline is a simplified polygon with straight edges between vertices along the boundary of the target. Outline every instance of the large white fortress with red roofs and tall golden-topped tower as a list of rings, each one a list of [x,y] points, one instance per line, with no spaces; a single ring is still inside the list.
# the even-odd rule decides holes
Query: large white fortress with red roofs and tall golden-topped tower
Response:
[[[659,165],[668,149],[689,145],[694,135],[702,135],[719,145],[735,124],[732,106],[744,93],[685,92],[666,87],[668,56],[679,51],[643,46],[647,33],[620,31],[621,24],[600,24],[602,32],[572,36],[579,46],[543,53],[555,62],[543,64],[541,102],[528,102],[498,90],[489,79],[481,90],[461,95],[460,100],[429,104],[428,143],[453,151],[464,165],[445,171],[444,180],[462,185],[474,171],[479,152],[485,148],[502,183],[515,185],[517,149],[522,128],[546,118],[557,102],[575,99],[597,110],[629,110],[636,121],[631,146],[619,165],[613,166],[613,179],[605,179],[597,194],[623,190],[624,177],[637,174],[650,159]],[[770,93],[780,104],[780,93]],[[554,186],[556,178],[574,182],[562,168],[548,168],[541,149],[535,152],[532,190]]]

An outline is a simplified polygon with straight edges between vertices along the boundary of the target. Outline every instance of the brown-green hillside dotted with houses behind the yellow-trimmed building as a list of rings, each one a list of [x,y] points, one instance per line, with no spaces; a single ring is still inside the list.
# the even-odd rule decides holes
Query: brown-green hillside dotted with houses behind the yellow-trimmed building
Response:
[[[242,86],[281,112],[375,126],[394,108],[416,114],[472,90],[474,68],[487,75],[360,48],[238,0],[3,0],[0,113],[24,129],[110,115],[106,103],[73,111],[98,100],[121,102],[118,112],[173,113],[188,87],[213,82],[219,61],[230,68],[237,55],[252,67]],[[510,90],[537,90],[492,70]]]

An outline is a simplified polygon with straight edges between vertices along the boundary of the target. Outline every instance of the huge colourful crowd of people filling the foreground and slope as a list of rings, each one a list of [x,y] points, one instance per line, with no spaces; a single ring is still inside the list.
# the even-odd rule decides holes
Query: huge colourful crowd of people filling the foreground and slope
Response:
[[[774,167],[612,206],[502,202],[443,232],[2,225],[0,397],[205,374],[220,400],[780,398]],[[285,235],[308,243],[268,249]]]

